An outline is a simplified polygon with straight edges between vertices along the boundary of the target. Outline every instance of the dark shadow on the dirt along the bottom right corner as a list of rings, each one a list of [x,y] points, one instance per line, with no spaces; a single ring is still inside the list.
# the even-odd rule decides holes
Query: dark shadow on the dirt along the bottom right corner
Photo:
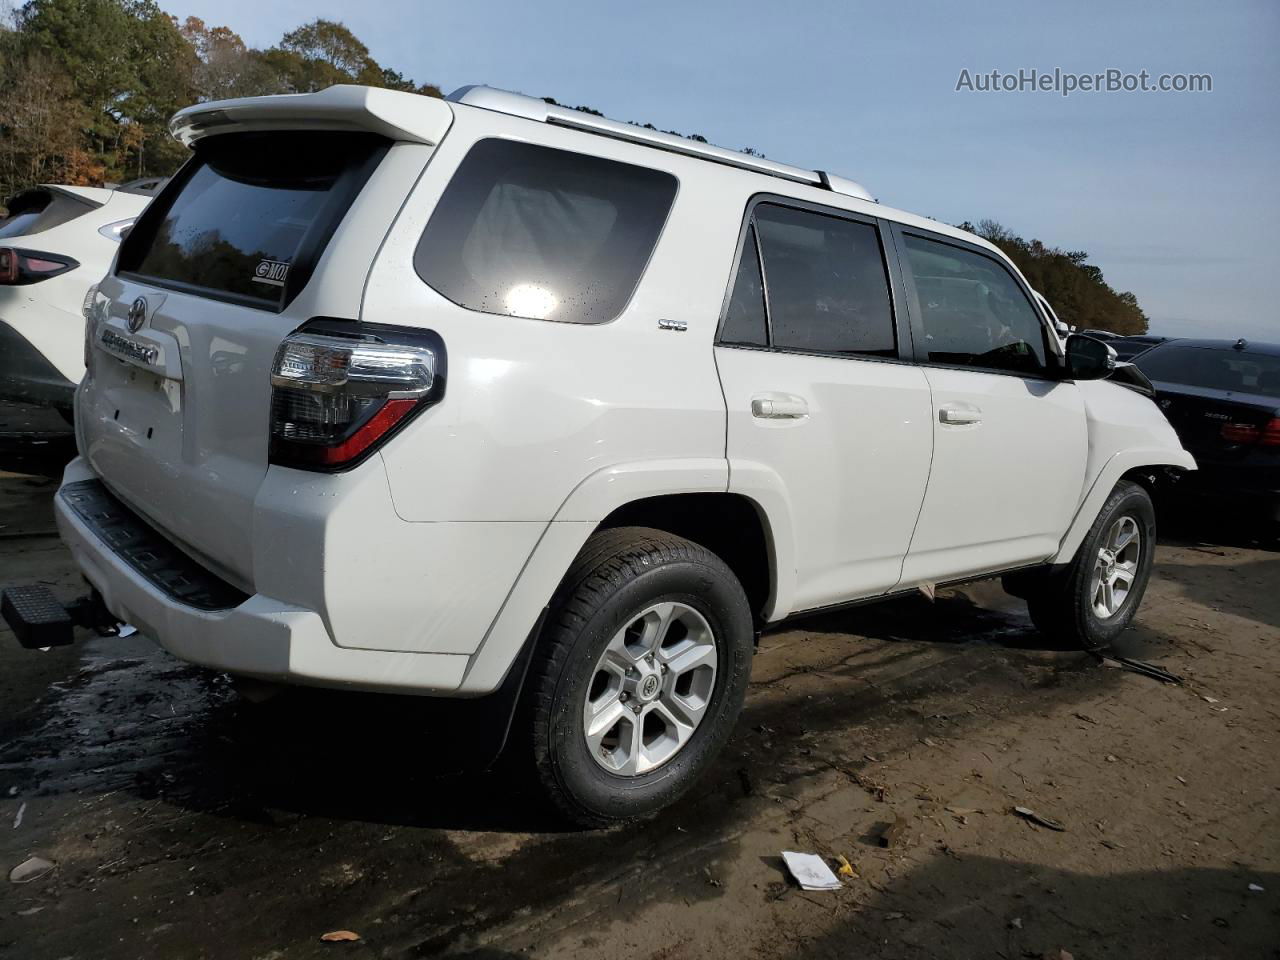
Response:
[[[1029,829],[1033,829],[1029,827]],[[1100,873],[1102,870],[1100,869]],[[1251,892],[1249,884],[1262,891]],[[937,855],[812,940],[795,960],[850,956],[1280,957],[1280,873],[1174,869],[1091,876]],[[963,934],[963,936],[961,936]]]

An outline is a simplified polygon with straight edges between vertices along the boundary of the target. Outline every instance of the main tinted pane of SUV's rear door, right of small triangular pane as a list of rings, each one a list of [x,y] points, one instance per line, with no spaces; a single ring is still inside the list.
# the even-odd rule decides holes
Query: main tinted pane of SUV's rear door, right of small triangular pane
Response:
[[[774,204],[755,207],[773,346],[893,356],[893,311],[870,224]]]

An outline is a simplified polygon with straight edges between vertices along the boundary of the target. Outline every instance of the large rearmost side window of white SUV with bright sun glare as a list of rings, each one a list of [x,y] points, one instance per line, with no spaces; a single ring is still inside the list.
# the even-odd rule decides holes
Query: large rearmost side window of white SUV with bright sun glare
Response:
[[[675,197],[667,173],[483,140],[445,187],[413,265],[468,310],[607,323],[631,298]]]

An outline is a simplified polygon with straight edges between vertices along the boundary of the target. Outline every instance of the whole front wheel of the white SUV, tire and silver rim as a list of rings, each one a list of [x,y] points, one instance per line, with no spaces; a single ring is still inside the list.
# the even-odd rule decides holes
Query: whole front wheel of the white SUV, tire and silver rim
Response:
[[[1138,612],[1155,552],[1151,497],[1121,480],[1066,570],[1027,591],[1032,622],[1064,644],[1085,650],[1110,645]]]

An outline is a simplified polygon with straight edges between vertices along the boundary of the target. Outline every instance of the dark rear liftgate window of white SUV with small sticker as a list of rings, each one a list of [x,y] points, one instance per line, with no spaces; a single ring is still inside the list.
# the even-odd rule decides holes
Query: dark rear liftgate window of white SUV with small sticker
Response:
[[[228,133],[147,209],[119,271],[265,310],[297,294],[387,151],[364,133]]]

